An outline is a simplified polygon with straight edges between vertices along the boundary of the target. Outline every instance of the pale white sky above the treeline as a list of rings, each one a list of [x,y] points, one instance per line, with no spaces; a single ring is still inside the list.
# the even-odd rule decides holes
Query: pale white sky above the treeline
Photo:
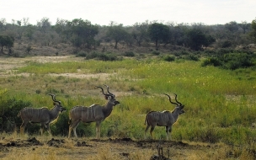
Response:
[[[226,24],[256,19],[256,0],[1,0],[0,19],[83,19],[92,24],[157,22]]]

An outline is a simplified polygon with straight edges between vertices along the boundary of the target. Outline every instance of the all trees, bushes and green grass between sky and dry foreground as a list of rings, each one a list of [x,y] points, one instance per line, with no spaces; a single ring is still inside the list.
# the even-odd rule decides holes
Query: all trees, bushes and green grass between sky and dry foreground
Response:
[[[185,114],[173,126],[173,141],[232,147],[215,159],[255,158],[255,20],[213,26],[157,22],[99,26],[83,19],[58,19],[51,25],[46,18],[37,25],[27,19],[1,23],[1,54],[7,64],[13,56],[38,57],[0,70],[2,134],[19,133],[20,109],[51,108],[48,93],[55,93],[70,110],[75,105],[105,104],[94,85],[108,84],[120,104],[102,123],[101,136],[143,140],[145,115],[173,110],[163,93],[172,98],[177,93]],[[41,56],[68,58],[40,61]],[[40,125],[28,125],[26,132],[40,135]],[[51,125],[51,132],[67,137],[68,112]],[[95,137],[95,125],[80,124],[77,135]],[[164,127],[156,127],[154,137],[164,140]]]

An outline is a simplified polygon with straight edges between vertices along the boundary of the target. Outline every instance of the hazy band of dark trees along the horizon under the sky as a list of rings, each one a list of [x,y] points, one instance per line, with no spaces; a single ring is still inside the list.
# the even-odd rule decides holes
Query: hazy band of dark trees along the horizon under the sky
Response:
[[[51,24],[47,18],[41,19],[36,25],[29,24],[29,19],[13,20],[12,24],[6,19],[0,19],[0,45],[8,48],[12,56],[13,43],[51,46],[60,43],[71,44],[77,51],[92,51],[102,43],[114,43],[114,49],[120,44],[129,46],[160,46],[172,45],[173,49],[182,46],[191,51],[207,50],[207,47],[235,48],[237,45],[250,46],[256,41],[256,19],[252,23],[241,24],[232,21],[227,24],[174,24],[148,22],[136,23],[132,26],[110,23],[109,26],[91,24],[88,20],[57,19]],[[26,52],[31,51],[28,45]]]

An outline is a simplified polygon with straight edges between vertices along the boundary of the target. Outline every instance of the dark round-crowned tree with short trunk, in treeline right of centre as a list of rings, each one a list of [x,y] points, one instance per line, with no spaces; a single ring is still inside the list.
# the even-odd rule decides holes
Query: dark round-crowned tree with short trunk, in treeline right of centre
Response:
[[[150,39],[155,41],[156,50],[158,50],[159,40],[168,40],[168,33],[169,29],[167,25],[154,23],[149,26],[148,34]]]

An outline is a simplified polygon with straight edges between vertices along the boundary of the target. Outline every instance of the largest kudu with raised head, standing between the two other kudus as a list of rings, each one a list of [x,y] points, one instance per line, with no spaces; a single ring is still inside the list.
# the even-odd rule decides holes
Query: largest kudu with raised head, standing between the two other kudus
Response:
[[[101,106],[99,104],[92,104],[89,107],[73,107],[69,112],[69,119],[71,123],[69,125],[68,138],[70,138],[72,130],[74,132],[74,136],[77,137],[76,128],[81,121],[84,123],[96,122],[96,137],[99,138],[101,122],[104,121],[105,118],[107,118],[111,114],[112,109],[116,104],[120,104],[119,101],[115,100],[115,94],[109,92],[109,86],[106,86],[108,93],[104,93],[104,89],[101,87],[95,87],[100,88],[102,93],[104,94],[104,99],[107,99],[109,101],[104,106]]]

